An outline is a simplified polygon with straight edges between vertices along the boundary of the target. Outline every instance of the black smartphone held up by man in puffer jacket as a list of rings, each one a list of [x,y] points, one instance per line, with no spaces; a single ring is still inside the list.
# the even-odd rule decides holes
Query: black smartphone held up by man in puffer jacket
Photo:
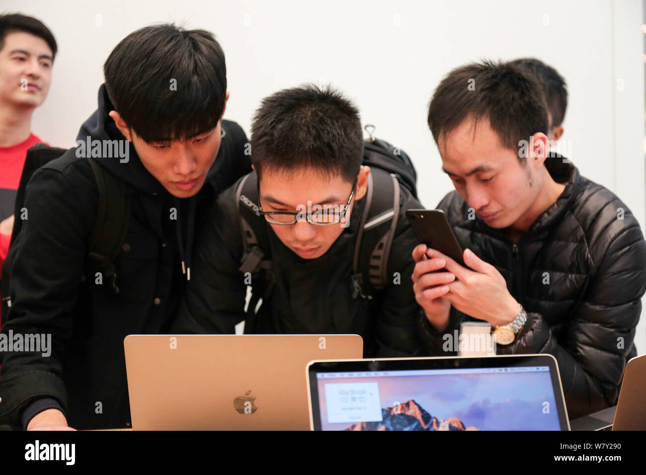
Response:
[[[409,209],[406,218],[420,244],[440,251],[464,266],[463,250],[441,209]],[[466,266],[464,266],[466,267]]]

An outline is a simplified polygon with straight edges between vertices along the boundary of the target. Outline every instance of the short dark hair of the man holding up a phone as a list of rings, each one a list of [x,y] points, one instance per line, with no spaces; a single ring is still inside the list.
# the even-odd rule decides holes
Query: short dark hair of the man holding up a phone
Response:
[[[465,119],[489,120],[503,147],[518,150],[521,140],[547,134],[545,93],[538,79],[510,63],[483,61],[453,69],[428,108],[435,143]],[[521,163],[525,157],[519,156]]]

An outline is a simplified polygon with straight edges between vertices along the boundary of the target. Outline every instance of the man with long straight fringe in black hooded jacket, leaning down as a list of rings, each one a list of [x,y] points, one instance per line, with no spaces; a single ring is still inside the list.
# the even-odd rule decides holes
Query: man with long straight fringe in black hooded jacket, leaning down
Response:
[[[213,34],[141,28],[114,48],[104,72],[79,147],[38,169],[26,188],[3,332],[51,335],[51,354],[0,353],[0,423],[129,427],[123,339],[167,331],[191,278],[203,209],[251,170],[244,132],[222,120],[229,92]],[[94,166],[130,203],[114,280],[89,260],[101,218]]]

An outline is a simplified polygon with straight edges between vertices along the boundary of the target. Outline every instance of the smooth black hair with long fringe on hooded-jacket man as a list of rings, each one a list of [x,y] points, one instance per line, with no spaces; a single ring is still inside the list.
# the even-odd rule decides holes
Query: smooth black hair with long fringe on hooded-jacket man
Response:
[[[172,23],[145,26],[112,50],[105,89],[145,142],[171,142],[214,129],[224,112],[224,52],[211,32]]]

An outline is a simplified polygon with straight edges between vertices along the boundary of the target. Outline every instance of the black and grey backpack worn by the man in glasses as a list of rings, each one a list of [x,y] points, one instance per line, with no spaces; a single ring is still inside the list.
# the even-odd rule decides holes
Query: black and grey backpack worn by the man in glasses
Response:
[[[364,142],[363,164],[370,166],[368,191],[364,200],[357,242],[353,256],[351,277],[354,299],[373,301],[375,291],[388,284],[388,257],[399,218],[400,187],[404,186],[417,198],[417,173],[404,151],[375,138],[370,128],[370,139]],[[275,283],[271,255],[267,246],[265,220],[258,220],[258,188],[256,174],[244,176],[236,189],[238,218],[244,253],[240,272],[251,276],[254,282],[251,299],[245,308],[245,333],[254,333],[256,315],[262,301],[266,301]],[[258,284],[260,282],[260,284]]]

